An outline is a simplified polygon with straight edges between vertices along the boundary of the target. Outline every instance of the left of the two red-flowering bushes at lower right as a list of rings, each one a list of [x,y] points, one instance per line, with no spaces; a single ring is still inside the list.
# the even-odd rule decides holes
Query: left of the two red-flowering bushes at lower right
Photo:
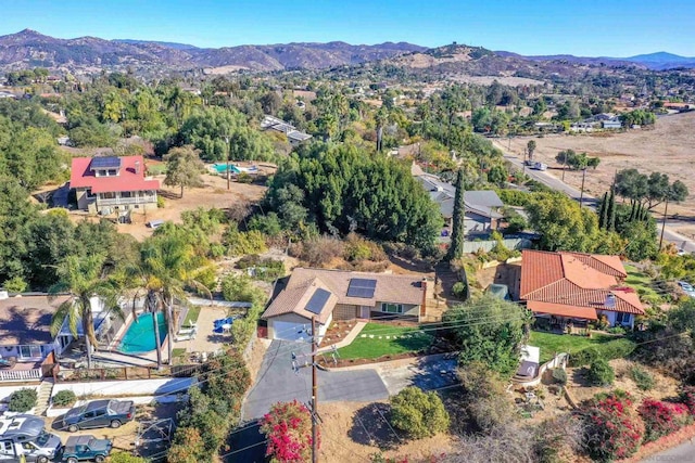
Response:
[[[609,394],[582,410],[584,447],[597,461],[612,461],[634,454],[644,436],[644,423],[631,410],[628,394]]]

